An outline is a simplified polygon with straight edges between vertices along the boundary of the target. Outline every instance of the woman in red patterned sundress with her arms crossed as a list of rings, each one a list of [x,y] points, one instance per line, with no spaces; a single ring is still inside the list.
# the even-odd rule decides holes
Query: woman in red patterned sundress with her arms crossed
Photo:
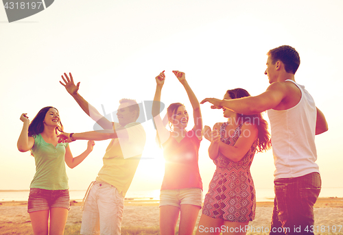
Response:
[[[228,90],[224,99],[248,97],[241,88]],[[223,108],[226,123],[204,127],[211,141],[209,157],[217,166],[204,199],[197,234],[246,234],[255,219],[256,196],[250,166],[256,151],[270,148],[268,124],[261,114],[243,115]]]

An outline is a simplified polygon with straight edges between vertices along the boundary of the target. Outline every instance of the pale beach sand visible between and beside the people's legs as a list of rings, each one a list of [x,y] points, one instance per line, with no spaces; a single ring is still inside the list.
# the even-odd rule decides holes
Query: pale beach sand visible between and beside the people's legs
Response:
[[[0,225],[30,222],[27,201],[5,201],[0,204]],[[67,225],[80,224],[81,203],[72,202],[71,204]],[[272,207],[272,202],[257,202],[256,217],[249,223],[250,230],[247,234],[268,234],[266,229],[270,227]],[[343,198],[319,198],[314,206],[314,212],[315,234],[343,234]],[[198,221],[200,215],[201,211]],[[158,201],[125,200],[122,227],[158,227],[158,217]],[[332,232],[333,226],[336,227],[336,232]]]

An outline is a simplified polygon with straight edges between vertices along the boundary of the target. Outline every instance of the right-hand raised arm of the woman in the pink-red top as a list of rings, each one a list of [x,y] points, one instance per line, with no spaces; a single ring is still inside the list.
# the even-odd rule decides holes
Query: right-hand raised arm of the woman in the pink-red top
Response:
[[[189,97],[189,101],[191,101],[191,106],[193,108],[193,119],[194,119],[194,131],[196,132],[196,136],[198,138],[202,138],[201,131],[202,131],[202,116],[200,111],[200,104],[196,95],[194,94],[193,90],[189,86],[188,82],[186,81],[185,73],[180,71],[173,71],[176,75],[182,86],[185,88],[187,95]]]

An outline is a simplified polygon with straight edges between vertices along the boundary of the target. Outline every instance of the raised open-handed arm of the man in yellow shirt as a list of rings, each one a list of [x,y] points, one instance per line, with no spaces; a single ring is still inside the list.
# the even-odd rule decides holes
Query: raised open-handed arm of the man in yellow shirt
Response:
[[[96,108],[94,108],[90,103],[88,103],[79,93],[80,82],[74,84],[73,76],[69,73],[64,73],[65,78],[62,75],[63,82],[60,81],[60,84],[66,88],[67,92],[78,102],[78,105],[86,112],[88,116],[91,117],[94,121],[97,122],[103,129],[111,129],[113,123],[108,121],[102,114],[100,114]]]

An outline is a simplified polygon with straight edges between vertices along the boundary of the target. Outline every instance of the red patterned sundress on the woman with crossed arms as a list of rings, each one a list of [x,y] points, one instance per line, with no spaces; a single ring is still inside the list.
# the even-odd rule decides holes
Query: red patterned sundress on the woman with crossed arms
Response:
[[[224,138],[227,125],[228,123],[223,123],[220,128],[220,140],[226,145],[233,146],[242,134],[243,124],[235,129],[233,135]],[[255,219],[256,193],[250,166],[256,147],[257,140],[239,162],[229,160],[222,153],[213,160],[217,168],[204,199],[202,214],[214,219],[241,223]]]

